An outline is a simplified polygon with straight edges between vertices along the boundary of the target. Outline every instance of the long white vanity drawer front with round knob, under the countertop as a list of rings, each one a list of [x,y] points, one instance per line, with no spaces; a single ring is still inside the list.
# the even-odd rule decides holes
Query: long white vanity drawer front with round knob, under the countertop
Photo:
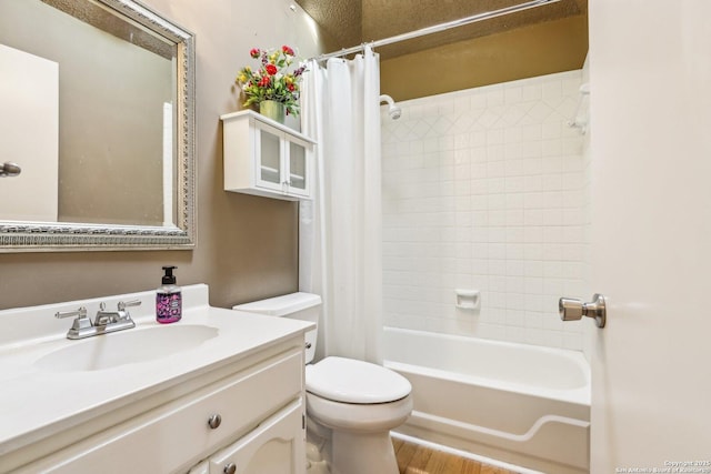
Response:
[[[254,430],[290,402],[300,400],[302,381],[303,355],[294,349],[84,438],[20,472],[188,471],[191,464]],[[213,427],[209,424],[211,418]]]

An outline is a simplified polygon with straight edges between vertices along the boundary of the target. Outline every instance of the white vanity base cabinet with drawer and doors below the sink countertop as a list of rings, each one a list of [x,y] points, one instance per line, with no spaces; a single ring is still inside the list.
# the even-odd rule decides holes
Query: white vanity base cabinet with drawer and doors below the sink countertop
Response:
[[[60,435],[76,442],[12,472],[303,474],[303,345],[292,336],[107,413],[83,438],[101,421],[79,424]]]

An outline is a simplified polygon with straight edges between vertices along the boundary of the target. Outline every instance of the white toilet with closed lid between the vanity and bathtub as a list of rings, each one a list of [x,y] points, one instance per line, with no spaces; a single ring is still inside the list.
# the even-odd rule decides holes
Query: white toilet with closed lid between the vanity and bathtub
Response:
[[[291,293],[239,304],[233,310],[318,323],[321,296]],[[307,437],[313,468],[319,455],[331,474],[397,474],[390,430],[412,412],[412,386],[402,375],[381,365],[328,356],[312,363],[317,330],[307,333]]]

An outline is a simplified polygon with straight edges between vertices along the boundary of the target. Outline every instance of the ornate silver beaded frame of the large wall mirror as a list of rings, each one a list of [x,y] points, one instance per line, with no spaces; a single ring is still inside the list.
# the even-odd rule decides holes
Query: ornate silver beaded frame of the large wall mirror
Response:
[[[194,36],[132,0],[94,0],[177,47],[176,226],[0,221],[0,253],[189,250],[196,245]]]

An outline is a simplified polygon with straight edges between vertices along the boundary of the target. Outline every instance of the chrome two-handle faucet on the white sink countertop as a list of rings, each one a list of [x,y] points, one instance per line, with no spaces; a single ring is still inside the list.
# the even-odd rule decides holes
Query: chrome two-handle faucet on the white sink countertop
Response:
[[[136,326],[127,307],[140,305],[140,300],[123,302],[120,301],[116,311],[107,311],[106,304],[99,305],[99,311],[93,322],[87,316],[87,309],[79,307],[77,311],[64,311],[54,314],[54,317],[76,317],[72,326],[67,332],[67,339],[84,339],[99,334],[128,330]]]

